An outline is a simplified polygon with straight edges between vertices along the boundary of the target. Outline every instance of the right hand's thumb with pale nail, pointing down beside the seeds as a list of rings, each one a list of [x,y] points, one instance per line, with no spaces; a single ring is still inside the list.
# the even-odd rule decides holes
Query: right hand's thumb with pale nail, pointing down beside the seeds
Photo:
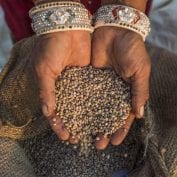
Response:
[[[132,110],[137,118],[144,115],[144,105],[149,98],[150,68],[144,68],[131,78]]]

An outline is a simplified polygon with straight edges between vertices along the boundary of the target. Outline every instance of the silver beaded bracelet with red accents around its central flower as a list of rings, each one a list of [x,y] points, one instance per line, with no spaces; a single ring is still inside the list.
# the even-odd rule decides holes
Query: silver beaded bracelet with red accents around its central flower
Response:
[[[150,32],[149,18],[141,11],[124,5],[105,5],[94,15],[95,29],[102,26],[126,28],[140,34],[143,40]]]

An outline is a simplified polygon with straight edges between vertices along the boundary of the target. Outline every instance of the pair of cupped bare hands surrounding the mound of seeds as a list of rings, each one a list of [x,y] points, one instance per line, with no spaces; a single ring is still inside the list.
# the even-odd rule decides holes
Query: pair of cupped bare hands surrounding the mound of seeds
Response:
[[[143,117],[149,97],[151,65],[139,34],[117,27],[100,27],[92,35],[87,31],[51,33],[38,37],[34,53],[42,111],[59,139],[72,144],[79,142],[54,112],[55,81],[68,66],[113,68],[131,85],[132,111],[126,124],[111,137],[98,135],[95,141],[97,149],[105,149],[109,143],[121,144],[135,117]],[[57,120],[56,126],[52,124],[53,118]]]

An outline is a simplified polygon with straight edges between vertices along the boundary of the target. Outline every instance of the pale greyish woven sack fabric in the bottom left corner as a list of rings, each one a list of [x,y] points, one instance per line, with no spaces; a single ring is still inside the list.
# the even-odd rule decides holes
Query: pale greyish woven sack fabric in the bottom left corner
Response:
[[[0,176],[36,177],[24,150],[8,138],[0,138]]]

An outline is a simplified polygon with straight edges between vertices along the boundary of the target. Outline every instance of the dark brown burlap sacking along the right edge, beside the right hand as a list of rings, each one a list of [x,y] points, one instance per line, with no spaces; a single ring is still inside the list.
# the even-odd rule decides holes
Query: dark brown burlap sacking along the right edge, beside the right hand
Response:
[[[149,131],[143,166],[133,177],[177,177],[177,56],[148,46],[152,59]]]

